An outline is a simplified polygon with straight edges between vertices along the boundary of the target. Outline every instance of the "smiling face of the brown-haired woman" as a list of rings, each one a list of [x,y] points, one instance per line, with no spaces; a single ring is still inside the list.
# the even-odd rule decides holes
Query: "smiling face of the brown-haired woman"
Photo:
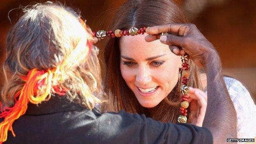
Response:
[[[155,107],[178,82],[180,56],[159,40],[146,42],[146,34],[120,39],[120,69],[126,84],[143,107]]]

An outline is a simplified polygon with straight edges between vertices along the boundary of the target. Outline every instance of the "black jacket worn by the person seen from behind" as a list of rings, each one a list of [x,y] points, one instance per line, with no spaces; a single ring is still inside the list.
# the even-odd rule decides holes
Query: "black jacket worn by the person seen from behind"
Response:
[[[1,120],[0,120],[1,121]],[[209,130],[154,121],[145,115],[87,110],[59,96],[29,104],[4,144],[211,144]]]

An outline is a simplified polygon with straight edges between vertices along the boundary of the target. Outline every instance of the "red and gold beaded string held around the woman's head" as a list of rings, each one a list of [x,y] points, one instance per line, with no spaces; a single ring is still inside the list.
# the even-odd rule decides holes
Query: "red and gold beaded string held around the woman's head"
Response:
[[[147,33],[147,30],[149,29],[149,27],[141,27],[141,28],[136,28],[136,27],[131,27],[128,31],[127,30],[115,30],[114,32],[112,30],[110,31],[105,31],[105,30],[98,30],[97,32],[93,32],[93,37],[100,39],[104,39],[105,37],[110,37],[110,38],[114,38],[114,37],[121,37],[121,36],[135,36],[137,34],[144,34],[145,32]],[[162,32],[160,35],[168,35],[168,32]],[[190,75],[190,71],[189,71],[189,64],[187,64],[189,60],[189,55],[187,55],[187,53],[185,53],[185,55],[183,55],[181,57],[181,61],[182,61],[182,85],[181,85],[181,107],[180,107],[180,116],[178,117],[178,122],[179,123],[186,123],[187,122],[187,108],[189,107],[189,103],[187,102],[187,98],[189,98],[189,86],[187,85],[189,82],[189,75]]]

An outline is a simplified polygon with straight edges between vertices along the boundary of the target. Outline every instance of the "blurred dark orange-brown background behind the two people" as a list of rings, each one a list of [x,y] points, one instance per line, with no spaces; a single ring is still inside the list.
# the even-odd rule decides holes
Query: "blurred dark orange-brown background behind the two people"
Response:
[[[21,16],[20,6],[35,0],[0,1],[0,64],[5,59],[6,36]],[[126,0],[59,0],[81,10],[92,30],[106,30],[115,11]],[[46,2],[38,0],[37,2]],[[191,23],[197,25],[213,43],[221,59],[224,74],[240,80],[256,98],[256,0],[174,0]],[[164,11],[163,11],[164,12]],[[9,15],[8,15],[9,13]],[[8,18],[9,16],[9,18]],[[100,58],[106,39],[97,43]],[[103,69],[104,72],[104,69]],[[0,86],[4,77],[0,73]]]

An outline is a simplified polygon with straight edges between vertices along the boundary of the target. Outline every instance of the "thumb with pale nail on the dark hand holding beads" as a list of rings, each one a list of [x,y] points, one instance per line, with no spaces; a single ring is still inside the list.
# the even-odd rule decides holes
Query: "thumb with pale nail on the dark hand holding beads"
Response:
[[[176,45],[180,47],[186,47],[185,46],[185,38],[184,37],[178,37],[172,34],[168,34],[166,36],[160,37],[160,42],[167,44],[167,45]]]

